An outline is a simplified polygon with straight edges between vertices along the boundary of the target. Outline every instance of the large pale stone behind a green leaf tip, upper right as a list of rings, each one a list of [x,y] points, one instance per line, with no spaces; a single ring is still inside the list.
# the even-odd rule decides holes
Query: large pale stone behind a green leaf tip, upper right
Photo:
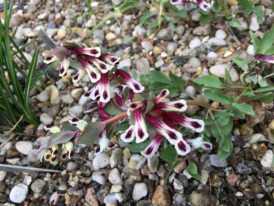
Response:
[[[239,79],[238,72],[234,67],[228,64],[214,65],[210,67],[210,73],[218,76],[219,78],[225,78],[225,69],[229,72],[232,82],[236,82]]]

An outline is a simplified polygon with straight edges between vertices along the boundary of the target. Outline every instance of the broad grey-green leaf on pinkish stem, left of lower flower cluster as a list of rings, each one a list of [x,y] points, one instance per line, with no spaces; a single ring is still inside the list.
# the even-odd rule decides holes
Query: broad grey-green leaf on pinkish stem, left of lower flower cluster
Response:
[[[81,137],[79,137],[78,144],[86,144],[86,146],[90,146],[90,144],[92,144],[103,132],[105,126],[104,122],[88,123],[84,128]]]

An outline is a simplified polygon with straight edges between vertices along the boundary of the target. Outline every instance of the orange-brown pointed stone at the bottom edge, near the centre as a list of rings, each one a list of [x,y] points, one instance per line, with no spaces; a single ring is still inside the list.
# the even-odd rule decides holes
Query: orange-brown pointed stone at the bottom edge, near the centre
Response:
[[[152,197],[153,206],[171,205],[171,196],[164,187],[158,185]]]

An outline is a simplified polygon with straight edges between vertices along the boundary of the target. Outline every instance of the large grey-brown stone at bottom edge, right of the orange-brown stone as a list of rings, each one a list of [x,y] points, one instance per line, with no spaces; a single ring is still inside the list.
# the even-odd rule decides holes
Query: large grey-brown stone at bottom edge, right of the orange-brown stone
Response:
[[[212,206],[216,203],[214,196],[210,196],[210,194],[206,194],[205,192],[199,193],[196,190],[188,196],[188,201],[190,201],[192,206]]]

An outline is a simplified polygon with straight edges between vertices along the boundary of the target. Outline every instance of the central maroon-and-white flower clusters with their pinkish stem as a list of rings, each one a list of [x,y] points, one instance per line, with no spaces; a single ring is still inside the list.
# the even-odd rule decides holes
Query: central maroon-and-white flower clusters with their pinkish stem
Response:
[[[179,132],[179,126],[192,130],[192,133],[201,133],[204,129],[202,120],[179,114],[186,111],[185,100],[171,101],[168,98],[168,89],[163,89],[156,97],[151,94],[149,98],[146,98],[150,92],[145,91],[145,87],[133,78],[130,72],[119,67],[119,58],[103,54],[99,47],[83,48],[65,45],[51,52],[53,54],[45,58],[45,63],[61,61],[60,76],[66,75],[69,69],[69,62],[66,60],[77,60],[81,68],[73,76],[73,82],[78,82],[85,75],[90,78],[92,87],[82,98],[97,101],[101,122],[86,124],[84,128],[77,130],[77,137],[71,138],[84,144],[91,144],[93,140],[90,142],[89,139],[98,137],[99,145],[95,155],[114,147],[109,140],[112,137],[112,131],[115,126],[124,122],[129,122],[128,128],[124,133],[118,132],[123,141],[129,143],[135,139],[136,143],[141,143],[146,139],[152,139],[149,146],[142,151],[145,157],[153,156],[164,139],[175,147],[179,155],[188,155],[196,148],[212,149],[212,144],[203,141],[202,137],[190,139],[183,137]],[[62,63],[64,60],[66,62]],[[115,110],[115,114],[110,112],[110,107]],[[150,138],[153,131],[156,131],[156,135],[154,133],[154,137]],[[71,131],[71,134],[75,134],[75,131]],[[61,147],[66,148],[66,145],[62,144]],[[50,149],[46,147],[47,155],[55,152],[52,150],[55,145],[51,144]],[[68,154],[67,151],[66,154]]]

